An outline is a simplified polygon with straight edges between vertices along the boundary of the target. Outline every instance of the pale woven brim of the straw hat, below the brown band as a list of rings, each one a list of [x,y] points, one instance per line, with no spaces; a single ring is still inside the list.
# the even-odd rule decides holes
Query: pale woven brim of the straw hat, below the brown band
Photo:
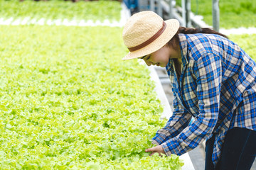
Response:
[[[164,45],[166,45],[166,43],[174,37],[179,28],[179,22],[176,19],[166,20],[165,23],[166,29],[164,30],[164,33],[156,38],[154,42],[151,42],[149,45],[146,45],[146,47],[139,50],[129,52],[125,57],[122,58],[122,60],[131,60],[138,57],[143,57],[144,55],[149,55],[152,52],[159,50],[161,47],[164,47]]]

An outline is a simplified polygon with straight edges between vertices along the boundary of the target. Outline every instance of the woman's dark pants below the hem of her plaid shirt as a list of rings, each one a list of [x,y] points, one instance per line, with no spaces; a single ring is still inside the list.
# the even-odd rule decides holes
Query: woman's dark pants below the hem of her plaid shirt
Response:
[[[206,141],[206,170],[213,170],[212,154],[215,135]],[[250,170],[256,155],[256,131],[245,128],[228,130],[214,170]]]

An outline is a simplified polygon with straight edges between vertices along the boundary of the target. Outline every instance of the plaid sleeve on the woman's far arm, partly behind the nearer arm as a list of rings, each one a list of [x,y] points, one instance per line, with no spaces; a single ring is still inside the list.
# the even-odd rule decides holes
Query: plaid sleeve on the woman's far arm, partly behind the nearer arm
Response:
[[[161,145],[172,137],[176,137],[181,130],[188,126],[191,117],[192,115],[178,103],[176,93],[174,93],[174,113],[169,118],[166,126],[156,132],[156,136],[152,139],[152,144]]]

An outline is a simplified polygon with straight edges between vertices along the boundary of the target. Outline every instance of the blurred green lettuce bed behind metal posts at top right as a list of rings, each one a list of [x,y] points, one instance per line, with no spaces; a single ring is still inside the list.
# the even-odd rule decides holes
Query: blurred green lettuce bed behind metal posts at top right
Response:
[[[203,21],[212,26],[212,1],[191,1],[191,10],[203,16]],[[181,6],[181,0],[176,0]],[[256,1],[252,0],[225,0],[219,1],[220,28],[256,27]]]

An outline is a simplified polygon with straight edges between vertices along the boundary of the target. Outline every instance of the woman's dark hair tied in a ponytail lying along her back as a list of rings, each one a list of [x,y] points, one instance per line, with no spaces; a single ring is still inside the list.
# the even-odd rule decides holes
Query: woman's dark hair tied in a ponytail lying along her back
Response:
[[[174,35],[171,40],[167,43],[171,47],[178,47],[178,34],[183,33],[183,34],[196,34],[196,33],[205,33],[205,34],[218,34],[220,36],[223,36],[225,38],[228,38],[226,35],[219,33],[215,30],[212,30],[210,28],[186,28],[186,27],[180,27],[178,28],[177,33]]]

